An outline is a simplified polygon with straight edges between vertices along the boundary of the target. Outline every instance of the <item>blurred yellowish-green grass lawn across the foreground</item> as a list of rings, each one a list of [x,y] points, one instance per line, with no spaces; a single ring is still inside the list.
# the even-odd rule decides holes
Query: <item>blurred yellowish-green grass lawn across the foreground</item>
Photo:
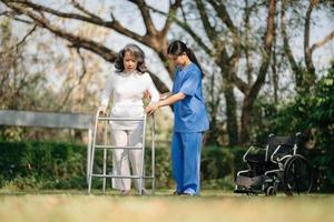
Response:
[[[171,191],[130,196],[108,191],[0,190],[0,221],[334,221],[334,195],[248,196],[203,191],[200,196],[173,196]]]

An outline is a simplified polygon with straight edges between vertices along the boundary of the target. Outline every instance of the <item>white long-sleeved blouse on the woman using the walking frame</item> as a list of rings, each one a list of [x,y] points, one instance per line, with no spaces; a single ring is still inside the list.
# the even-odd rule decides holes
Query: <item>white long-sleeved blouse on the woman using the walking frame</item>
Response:
[[[107,82],[101,95],[101,105],[108,107],[112,94],[111,118],[141,118],[144,115],[143,97],[145,91],[151,95],[151,102],[159,101],[159,93],[148,73],[115,72]],[[111,121],[112,129],[132,130],[139,122]]]

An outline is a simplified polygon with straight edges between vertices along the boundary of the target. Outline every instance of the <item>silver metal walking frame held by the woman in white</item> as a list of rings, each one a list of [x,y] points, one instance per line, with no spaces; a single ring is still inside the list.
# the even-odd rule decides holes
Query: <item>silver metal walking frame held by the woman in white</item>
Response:
[[[89,153],[87,154],[88,160],[87,163],[88,165],[88,193],[91,193],[91,183],[92,183],[92,178],[102,178],[102,192],[104,194],[106,193],[106,179],[107,178],[116,178],[116,179],[139,179],[139,195],[143,194],[143,183],[144,179],[150,179],[151,180],[151,194],[155,193],[155,186],[156,186],[156,181],[155,181],[155,117],[154,114],[151,115],[153,121],[151,121],[151,172],[150,175],[145,175],[145,135],[146,135],[146,124],[147,124],[147,114],[145,113],[143,118],[107,118],[100,117],[99,110],[96,113],[95,118],[95,129],[94,129],[94,138],[92,138],[92,145],[91,149],[89,150]],[[141,141],[141,147],[116,147],[116,145],[109,145],[108,144],[108,124],[109,121],[131,121],[131,122],[143,122],[143,141]],[[105,129],[104,129],[104,144],[97,144],[97,130],[98,130],[98,123],[99,122],[105,122]],[[95,161],[95,154],[97,149],[102,149],[104,150],[104,163],[102,163],[102,173],[94,173],[94,161]],[[112,173],[107,174],[107,153],[108,150],[112,149],[127,149],[127,150],[143,150],[143,155],[141,155],[141,167],[140,167],[140,172],[139,175],[115,175]]]

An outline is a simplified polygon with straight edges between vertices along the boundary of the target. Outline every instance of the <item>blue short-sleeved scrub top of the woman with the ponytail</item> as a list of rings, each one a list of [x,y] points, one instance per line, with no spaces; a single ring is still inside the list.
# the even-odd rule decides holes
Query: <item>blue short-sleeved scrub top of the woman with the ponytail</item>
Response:
[[[174,103],[175,132],[203,132],[208,129],[208,118],[202,93],[202,72],[195,63],[178,68],[174,75],[173,93],[183,92],[184,100]]]

